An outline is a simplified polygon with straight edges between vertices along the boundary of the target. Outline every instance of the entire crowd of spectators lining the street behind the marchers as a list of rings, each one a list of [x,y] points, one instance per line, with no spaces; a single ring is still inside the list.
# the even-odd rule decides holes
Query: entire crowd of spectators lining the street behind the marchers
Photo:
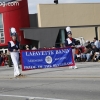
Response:
[[[100,60],[100,41],[94,38],[93,42],[86,41],[84,46],[79,46],[80,43],[77,41],[75,48],[74,59],[76,62],[97,62]],[[50,48],[43,47],[39,49],[55,49],[55,46]],[[64,44],[60,44],[60,48],[65,48]],[[28,45],[25,46],[25,50],[37,50],[35,46],[30,48]],[[13,66],[11,61],[9,51],[7,53],[0,54],[0,66],[8,65],[9,67]]]

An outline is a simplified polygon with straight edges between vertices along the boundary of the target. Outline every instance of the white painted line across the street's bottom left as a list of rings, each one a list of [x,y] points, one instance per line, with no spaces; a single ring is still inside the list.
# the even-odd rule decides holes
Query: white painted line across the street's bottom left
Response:
[[[26,98],[28,100],[33,99],[42,99],[42,100],[66,100],[66,99],[56,99],[56,98],[45,98],[45,97],[31,97],[31,96],[20,96],[20,95],[3,95],[0,94],[0,97],[14,97],[14,98]]]

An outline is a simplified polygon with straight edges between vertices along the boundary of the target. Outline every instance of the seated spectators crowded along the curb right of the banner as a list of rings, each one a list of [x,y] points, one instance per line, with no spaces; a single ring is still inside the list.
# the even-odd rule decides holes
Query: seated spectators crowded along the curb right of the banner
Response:
[[[86,41],[84,50],[76,48],[75,61],[78,62],[97,62],[100,60],[100,41],[94,38],[93,42]]]

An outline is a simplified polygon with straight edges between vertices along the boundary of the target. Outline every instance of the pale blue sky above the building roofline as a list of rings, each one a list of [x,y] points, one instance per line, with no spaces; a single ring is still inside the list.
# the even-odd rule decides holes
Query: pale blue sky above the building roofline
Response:
[[[28,0],[29,13],[37,13],[37,4],[54,3],[54,0]],[[59,3],[100,3],[100,0],[59,0]]]

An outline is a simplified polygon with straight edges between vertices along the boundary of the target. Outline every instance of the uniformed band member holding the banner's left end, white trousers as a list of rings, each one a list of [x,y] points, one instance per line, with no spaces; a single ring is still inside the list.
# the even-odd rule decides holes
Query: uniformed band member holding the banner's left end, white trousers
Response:
[[[17,33],[15,28],[11,28],[12,40],[8,42],[8,50],[11,55],[11,59],[14,65],[14,77],[20,77],[21,75],[19,67],[19,42],[17,41]]]

